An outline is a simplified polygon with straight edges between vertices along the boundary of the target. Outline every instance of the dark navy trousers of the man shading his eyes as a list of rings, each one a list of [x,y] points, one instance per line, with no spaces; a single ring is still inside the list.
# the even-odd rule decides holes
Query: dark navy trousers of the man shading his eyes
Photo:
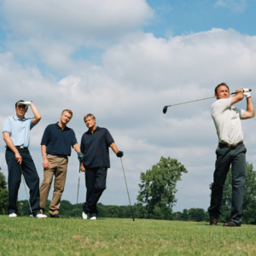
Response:
[[[36,166],[27,148],[17,148],[22,157],[21,169],[26,181],[26,185],[29,188],[30,205],[32,208],[32,214],[37,215],[39,210],[39,177]],[[8,166],[8,190],[9,190],[9,205],[8,213],[17,212],[16,201],[18,199],[18,192],[20,189],[21,173],[20,166],[15,160],[15,153],[6,148],[5,160]]]

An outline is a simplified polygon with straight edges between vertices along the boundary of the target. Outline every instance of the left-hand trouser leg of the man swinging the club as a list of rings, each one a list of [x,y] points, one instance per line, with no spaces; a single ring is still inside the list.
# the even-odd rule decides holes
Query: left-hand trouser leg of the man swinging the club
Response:
[[[224,189],[224,183],[230,170],[230,148],[218,147],[217,160],[213,174],[211,205],[208,208],[210,218],[218,218]]]

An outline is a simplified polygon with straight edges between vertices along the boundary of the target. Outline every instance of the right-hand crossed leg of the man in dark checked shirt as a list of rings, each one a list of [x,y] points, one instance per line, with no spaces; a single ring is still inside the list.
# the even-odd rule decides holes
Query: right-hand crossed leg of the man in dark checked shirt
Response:
[[[87,171],[86,171],[87,172]],[[96,209],[96,204],[102,196],[103,191],[106,189],[106,179],[107,179],[108,168],[98,167],[96,168],[96,179],[94,189],[90,195],[88,201],[85,202],[85,209],[90,209],[90,217],[98,216],[98,211]]]

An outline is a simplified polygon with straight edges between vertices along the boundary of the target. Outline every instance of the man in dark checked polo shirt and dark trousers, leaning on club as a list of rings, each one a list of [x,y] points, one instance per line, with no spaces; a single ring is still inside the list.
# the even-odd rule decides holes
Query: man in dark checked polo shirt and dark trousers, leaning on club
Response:
[[[98,211],[96,204],[103,191],[106,189],[108,168],[110,167],[108,147],[112,148],[117,157],[124,154],[116,147],[113,137],[106,128],[96,126],[96,118],[87,113],[84,123],[88,131],[81,138],[81,152],[84,154],[84,162],[81,163],[81,171],[85,172],[86,201],[83,205],[82,217],[96,219]]]

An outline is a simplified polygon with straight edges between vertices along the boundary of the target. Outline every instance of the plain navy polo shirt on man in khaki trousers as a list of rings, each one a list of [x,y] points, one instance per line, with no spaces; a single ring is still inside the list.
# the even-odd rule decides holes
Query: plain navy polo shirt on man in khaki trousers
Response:
[[[71,146],[78,143],[71,128],[61,129],[58,123],[45,128],[41,145],[45,145],[46,153],[52,155],[71,155]]]

